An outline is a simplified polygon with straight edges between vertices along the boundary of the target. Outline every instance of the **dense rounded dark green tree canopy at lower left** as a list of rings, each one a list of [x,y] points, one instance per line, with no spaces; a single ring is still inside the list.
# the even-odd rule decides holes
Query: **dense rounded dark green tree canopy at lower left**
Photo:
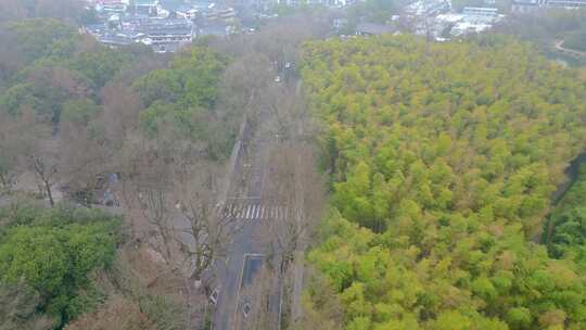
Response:
[[[40,310],[61,322],[89,308],[79,292],[91,292],[90,272],[113,262],[118,221],[65,208],[24,207],[10,217],[4,225],[9,229],[0,236],[0,283],[24,280],[38,292]]]

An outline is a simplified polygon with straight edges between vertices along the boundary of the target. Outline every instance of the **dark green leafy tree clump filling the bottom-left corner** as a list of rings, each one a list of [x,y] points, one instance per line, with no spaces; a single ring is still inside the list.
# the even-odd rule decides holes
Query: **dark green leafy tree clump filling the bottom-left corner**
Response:
[[[0,214],[2,329],[50,329],[94,308],[105,296],[90,274],[114,262],[120,220],[20,206]]]

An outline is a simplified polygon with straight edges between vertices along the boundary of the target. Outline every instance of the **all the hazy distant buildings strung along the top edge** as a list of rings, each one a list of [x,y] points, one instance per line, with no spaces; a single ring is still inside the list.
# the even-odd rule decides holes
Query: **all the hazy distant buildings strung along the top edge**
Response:
[[[277,15],[276,5],[295,8],[301,0],[85,0],[97,13],[98,23],[82,31],[110,47],[142,43],[155,52],[175,52],[202,36],[226,37],[254,33],[255,24]],[[364,0],[305,0],[308,5],[344,9]],[[388,17],[384,24],[359,22],[348,30],[345,11],[333,18],[339,35],[400,34],[405,30],[436,41],[480,34],[505,18],[495,0],[481,7],[453,8],[450,0],[419,0]],[[532,13],[545,9],[586,8],[586,0],[513,0],[512,13]],[[244,14],[245,13],[245,14]]]

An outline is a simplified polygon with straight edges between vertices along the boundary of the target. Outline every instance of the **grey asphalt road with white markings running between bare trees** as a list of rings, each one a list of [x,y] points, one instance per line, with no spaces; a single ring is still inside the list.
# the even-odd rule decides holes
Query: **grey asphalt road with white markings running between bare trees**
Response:
[[[295,77],[289,78],[285,80],[295,84],[298,93],[301,86],[298,80]],[[283,81],[282,84],[288,82]],[[264,114],[263,117],[268,120],[268,116],[271,114]],[[252,208],[256,210],[256,213],[254,211],[252,214],[244,212],[237,217],[243,225],[242,230],[235,234],[231,242],[227,259],[217,262],[215,265],[217,276],[215,289],[219,290],[219,294],[214,314],[214,330],[240,330],[239,325],[243,318],[243,306],[246,300],[246,297],[241,296],[242,283],[250,283],[254,278],[259,268],[257,263],[259,258],[264,262],[267,261],[266,257],[263,257],[267,254],[266,243],[260,241],[257,233],[262,231],[265,221],[273,220],[284,216],[284,213],[291,212],[282,205],[267,205],[262,199],[266,177],[265,169],[268,167],[268,152],[271,144],[276,142],[275,139],[275,135],[270,130],[244,129],[242,134],[241,148],[237,155],[226,204],[241,205],[242,210]],[[250,205],[258,205],[258,207]],[[273,289],[276,291],[269,297],[271,314],[279,318],[273,320],[275,329],[279,329],[282,303],[282,283],[278,283],[278,287]]]

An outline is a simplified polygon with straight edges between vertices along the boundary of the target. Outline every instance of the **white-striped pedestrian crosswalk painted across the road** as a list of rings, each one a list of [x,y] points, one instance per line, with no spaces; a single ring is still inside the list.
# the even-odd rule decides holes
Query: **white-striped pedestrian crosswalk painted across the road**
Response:
[[[233,217],[237,220],[282,220],[292,215],[286,206],[263,204],[218,205],[218,215]]]

